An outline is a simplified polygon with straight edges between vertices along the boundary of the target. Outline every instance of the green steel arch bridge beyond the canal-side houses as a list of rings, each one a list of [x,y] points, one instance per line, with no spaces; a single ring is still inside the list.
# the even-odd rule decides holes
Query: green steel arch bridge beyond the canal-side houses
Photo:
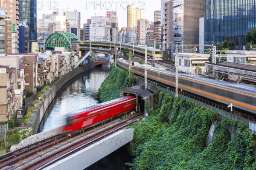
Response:
[[[70,32],[55,32],[49,35],[44,47],[45,50],[54,50],[55,47],[71,50],[71,41],[80,41],[80,38]]]

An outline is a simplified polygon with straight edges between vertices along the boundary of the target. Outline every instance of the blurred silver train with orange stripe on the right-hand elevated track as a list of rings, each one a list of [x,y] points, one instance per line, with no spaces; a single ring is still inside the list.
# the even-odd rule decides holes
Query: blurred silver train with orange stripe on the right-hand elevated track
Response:
[[[128,70],[128,61],[117,59],[116,63],[120,68]],[[145,66],[135,63],[133,72],[144,77]],[[148,79],[175,88],[175,71],[168,68],[147,67]],[[201,75],[179,73],[178,87],[198,96],[211,99],[226,105],[233,104],[244,113],[256,113],[256,88],[250,85],[231,84],[229,82],[217,81],[202,77]]]

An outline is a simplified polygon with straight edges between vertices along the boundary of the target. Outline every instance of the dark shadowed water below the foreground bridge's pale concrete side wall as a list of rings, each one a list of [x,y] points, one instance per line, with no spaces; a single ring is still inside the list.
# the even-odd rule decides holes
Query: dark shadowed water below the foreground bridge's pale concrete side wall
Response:
[[[132,161],[132,157],[128,153],[128,144],[120,147],[115,152],[92,164],[84,170],[129,170],[125,165],[127,162]]]

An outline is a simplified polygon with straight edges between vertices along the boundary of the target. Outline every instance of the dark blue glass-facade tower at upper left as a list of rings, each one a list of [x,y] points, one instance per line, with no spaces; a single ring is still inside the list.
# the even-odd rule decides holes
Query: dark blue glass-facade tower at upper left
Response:
[[[29,52],[32,42],[37,41],[36,34],[36,0],[19,0],[20,21],[26,21],[29,27]]]

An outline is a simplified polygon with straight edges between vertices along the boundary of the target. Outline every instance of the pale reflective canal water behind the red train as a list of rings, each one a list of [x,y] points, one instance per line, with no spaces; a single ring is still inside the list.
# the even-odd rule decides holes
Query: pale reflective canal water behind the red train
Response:
[[[70,82],[55,97],[42,131],[65,125],[67,113],[98,103],[97,92],[108,74],[107,66],[96,68]]]

